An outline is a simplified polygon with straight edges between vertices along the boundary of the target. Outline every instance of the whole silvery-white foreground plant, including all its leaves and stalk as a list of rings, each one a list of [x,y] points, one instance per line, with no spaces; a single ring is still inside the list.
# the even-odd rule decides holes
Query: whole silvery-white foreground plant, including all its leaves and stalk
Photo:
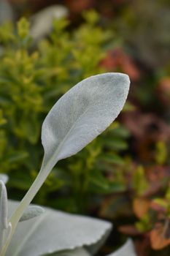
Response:
[[[1,256],[52,253],[88,256],[97,252],[102,240],[109,234],[111,225],[108,222],[71,216],[50,209],[45,209],[43,213],[39,206],[29,204],[59,160],[77,154],[115,120],[125,104],[129,84],[128,75],[121,73],[91,76],[82,80],[55,103],[42,124],[42,146],[45,151],[42,167],[23,200],[19,204],[9,201],[10,211],[15,208],[10,217],[4,185],[7,178],[1,177]],[[20,225],[18,222],[21,222]],[[70,252],[62,252],[63,250]],[[132,242],[128,241],[112,255],[135,255]]]

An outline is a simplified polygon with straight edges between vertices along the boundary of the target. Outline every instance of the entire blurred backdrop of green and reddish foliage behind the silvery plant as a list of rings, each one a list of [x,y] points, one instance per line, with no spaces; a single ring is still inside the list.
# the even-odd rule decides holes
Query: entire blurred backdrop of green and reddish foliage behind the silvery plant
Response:
[[[170,253],[169,0],[0,0],[0,171],[20,200],[42,162],[42,121],[83,78],[125,72],[128,102],[34,203],[109,219],[101,255],[131,236],[139,256]]]

